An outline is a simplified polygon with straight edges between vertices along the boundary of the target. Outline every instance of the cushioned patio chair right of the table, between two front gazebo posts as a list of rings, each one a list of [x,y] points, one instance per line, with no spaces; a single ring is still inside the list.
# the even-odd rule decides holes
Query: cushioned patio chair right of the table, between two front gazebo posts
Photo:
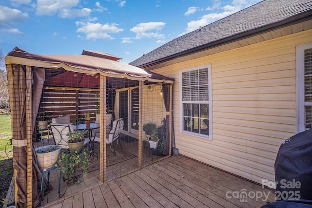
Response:
[[[113,154],[115,154],[115,156],[117,156],[117,154],[114,148],[114,141],[117,140],[117,143],[118,143],[119,133],[121,129],[123,129],[123,125],[124,125],[124,122],[122,118],[119,118],[118,120],[114,120],[111,131],[108,134],[106,134],[106,144],[110,144],[110,147],[112,148]],[[93,142],[95,141],[99,142],[99,137],[97,137],[97,133],[95,133],[95,136],[93,138]],[[119,142],[119,145],[121,148],[120,142]]]

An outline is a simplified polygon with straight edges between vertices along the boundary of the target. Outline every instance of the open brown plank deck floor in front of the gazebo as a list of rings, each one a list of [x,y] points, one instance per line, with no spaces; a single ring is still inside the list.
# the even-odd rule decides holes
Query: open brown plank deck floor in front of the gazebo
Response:
[[[259,208],[274,197],[270,189],[179,155],[46,207]]]

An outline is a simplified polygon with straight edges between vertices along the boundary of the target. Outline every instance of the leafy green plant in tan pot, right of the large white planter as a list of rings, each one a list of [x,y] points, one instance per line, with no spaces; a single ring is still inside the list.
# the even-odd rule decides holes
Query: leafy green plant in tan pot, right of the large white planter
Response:
[[[87,133],[87,130],[78,131],[75,129],[73,132],[68,132],[67,144],[69,150],[81,151],[84,143],[84,135]]]

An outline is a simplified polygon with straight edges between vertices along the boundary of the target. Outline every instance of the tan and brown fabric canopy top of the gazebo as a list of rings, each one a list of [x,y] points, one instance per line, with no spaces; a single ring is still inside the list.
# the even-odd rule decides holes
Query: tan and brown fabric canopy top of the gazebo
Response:
[[[88,75],[103,75],[117,78],[150,82],[174,83],[174,79],[161,76],[144,69],[119,62],[121,58],[98,51],[83,51],[81,55],[38,55],[14,48],[7,57],[6,64],[21,64],[42,68],[59,69],[84,73]]]

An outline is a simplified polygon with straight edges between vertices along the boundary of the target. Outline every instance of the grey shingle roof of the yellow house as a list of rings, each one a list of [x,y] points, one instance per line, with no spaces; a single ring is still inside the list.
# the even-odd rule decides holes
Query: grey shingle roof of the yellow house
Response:
[[[312,19],[311,0],[264,0],[226,18],[156,48],[145,56],[129,63],[143,66],[166,57],[177,57],[199,48],[234,40],[241,35],[255,35],[283,25]],[[232,39],[231,39],[232,38]],[[223,41],[223,43],[224,43]]]

